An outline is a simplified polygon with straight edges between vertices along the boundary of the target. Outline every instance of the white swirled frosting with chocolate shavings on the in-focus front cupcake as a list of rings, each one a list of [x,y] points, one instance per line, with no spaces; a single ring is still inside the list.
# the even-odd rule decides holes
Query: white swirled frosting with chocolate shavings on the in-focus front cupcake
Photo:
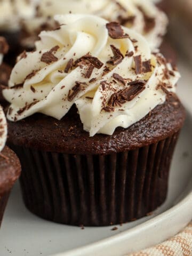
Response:
[[[65,25],[42,31],[36,51],[20,55],[3,90],[11,121],[34,113],[61,119],[75,104],[90,136],[110,135],[175,92],[179,73],[134,30],[94,15],[55,19]]]

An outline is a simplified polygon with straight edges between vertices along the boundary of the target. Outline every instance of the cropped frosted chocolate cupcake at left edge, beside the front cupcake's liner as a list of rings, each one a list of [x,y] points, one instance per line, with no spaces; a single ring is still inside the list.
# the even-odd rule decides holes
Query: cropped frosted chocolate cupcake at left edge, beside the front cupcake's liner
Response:
[[[10,191],[21,172],[18,157],[5,146],[6,137],[7,124],[0,106],[0,226]]]

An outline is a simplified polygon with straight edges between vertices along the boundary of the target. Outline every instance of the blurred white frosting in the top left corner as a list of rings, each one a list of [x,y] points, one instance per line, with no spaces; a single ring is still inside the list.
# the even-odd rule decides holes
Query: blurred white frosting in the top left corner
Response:
[[[34,17],[35,6],[36,4],[33,0],[1,0],[0,30],[18,30],[21,19]]]

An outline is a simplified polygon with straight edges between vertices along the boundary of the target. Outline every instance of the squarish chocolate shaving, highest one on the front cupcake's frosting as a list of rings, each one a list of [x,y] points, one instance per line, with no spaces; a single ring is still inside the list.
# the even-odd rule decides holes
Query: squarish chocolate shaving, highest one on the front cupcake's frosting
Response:
[[[109,22],[106,24],[106,27],[108,29],[109,36],[113,39],[129,38],[129,35],[124,34],[122,26],[118,22]]]

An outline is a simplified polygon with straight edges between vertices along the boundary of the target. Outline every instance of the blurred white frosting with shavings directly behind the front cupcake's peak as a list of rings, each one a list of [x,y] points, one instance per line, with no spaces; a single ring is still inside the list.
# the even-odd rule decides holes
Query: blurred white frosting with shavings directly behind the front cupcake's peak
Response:
[[[45,26],[47,21],[42,20],[42,17],[54,17],[55,14],[67,13],[95,14],[108,21],[117,21],[143,34],[150,43],[151,49],[161,44],[162,36],[166,33],[166,15],[151,0],[42,0],[37,10],[40,18],[25,22],[25,28],[29,34],[39,30],[38,23],[39,28],[42,25]],[[47,23],[50,24],[50,20]]]

